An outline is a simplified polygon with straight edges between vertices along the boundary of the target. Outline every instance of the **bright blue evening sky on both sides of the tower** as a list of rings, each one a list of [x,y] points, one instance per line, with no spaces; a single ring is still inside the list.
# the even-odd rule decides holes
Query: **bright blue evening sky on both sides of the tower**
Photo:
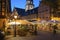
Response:
[[[25,9],[26,0],[11,0],[11,8],[13,10],[14,7]],[[34,0],[34,5],[37,7],[39,5],[39,0]]]

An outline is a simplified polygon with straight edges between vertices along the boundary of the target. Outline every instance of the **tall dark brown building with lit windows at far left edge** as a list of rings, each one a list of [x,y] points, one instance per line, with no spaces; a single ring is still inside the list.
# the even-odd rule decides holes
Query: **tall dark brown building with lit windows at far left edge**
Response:
[[[11,12],[11,0],[0,0],[0,16],[8,16]]]

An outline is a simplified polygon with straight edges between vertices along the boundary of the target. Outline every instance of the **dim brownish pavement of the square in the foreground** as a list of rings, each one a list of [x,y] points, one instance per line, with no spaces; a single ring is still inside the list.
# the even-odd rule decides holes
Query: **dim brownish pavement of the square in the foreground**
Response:
[[[51,32],[38,32],[36,36],[28,36],[28,37],[10,37],[6,40],[60,40],[60,34],[53,34]]]

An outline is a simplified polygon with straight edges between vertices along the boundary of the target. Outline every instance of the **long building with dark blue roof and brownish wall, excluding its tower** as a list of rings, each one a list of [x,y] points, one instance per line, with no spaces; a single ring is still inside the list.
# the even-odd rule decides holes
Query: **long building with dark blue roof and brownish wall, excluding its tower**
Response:
[[[28,11],[25,11],[25,9],[15,7],[13,13],[16,12],[18,13],[20,19],[32,20],[32,19],[36,19],[38,16],[38,7]]]

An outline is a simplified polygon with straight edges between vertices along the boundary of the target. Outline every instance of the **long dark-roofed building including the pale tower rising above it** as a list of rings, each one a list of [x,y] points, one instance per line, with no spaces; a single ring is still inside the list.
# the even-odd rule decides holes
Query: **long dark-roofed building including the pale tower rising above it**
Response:
[[[38,16],[38,7],[34,8],[33,0],[26,0],[25,9],[15,7],[13,13],[18,13],[20,19],[32,20]]]

